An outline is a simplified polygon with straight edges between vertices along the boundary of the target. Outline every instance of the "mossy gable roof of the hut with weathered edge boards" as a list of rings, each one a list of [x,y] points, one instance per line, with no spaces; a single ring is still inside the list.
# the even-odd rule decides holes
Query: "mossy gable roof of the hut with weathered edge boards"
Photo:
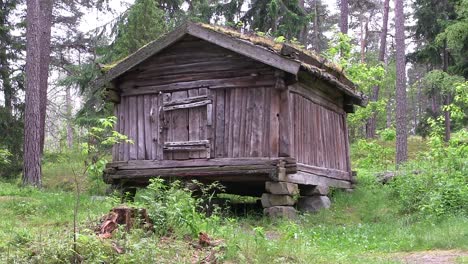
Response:
[[[96,79],[93,86],[99,88],[106,85],[186,35],[213,43],[294,76],[305,72],[330,83],[346,94],[352,103],[361,106],[366,104],[366,97],[356,91],[355,85],[346,78],[342,69],[311,51],[292,44],[278,43],[266,37],[243,34],[225,27],[192,22],[184,23],[124,58]]]

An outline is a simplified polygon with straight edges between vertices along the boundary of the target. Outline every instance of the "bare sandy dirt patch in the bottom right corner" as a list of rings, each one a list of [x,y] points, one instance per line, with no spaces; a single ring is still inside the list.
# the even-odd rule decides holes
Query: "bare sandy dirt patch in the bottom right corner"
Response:
[[[395,259],[407,264],[453,264],[457,263],[459,257],[468,257],[468,251],[431,250],[398,253]]]

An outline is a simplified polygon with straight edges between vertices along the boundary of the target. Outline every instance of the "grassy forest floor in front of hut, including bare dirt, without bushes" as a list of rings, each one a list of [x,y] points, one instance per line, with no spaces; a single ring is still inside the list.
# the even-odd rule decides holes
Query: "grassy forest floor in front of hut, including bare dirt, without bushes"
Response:
[[[271,220],[245,207],[210,217],[198,228],[215,246],[177,230],[99,239],[95,227],[120,200],[82,190],[74,248],[77,199],[64,164],[45,166],[43,190],[0,182],[0,263],[70,263],[76,252],[81,263],[468,263],[466,216],[402,213],[391,188],[366,184],[374,172],[365,171],[354,192],[333,191],[332,208],[317,214]]]

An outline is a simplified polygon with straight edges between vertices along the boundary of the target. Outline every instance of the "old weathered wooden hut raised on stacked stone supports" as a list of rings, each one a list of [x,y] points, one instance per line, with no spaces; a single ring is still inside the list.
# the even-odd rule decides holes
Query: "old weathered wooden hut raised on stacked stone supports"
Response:
[[[219,181],[229,193],[263,194],[274,215],[293,212],[299,190],[307,209],[327,205],[328,186],[351,187],[346,114],[365,98],[340,69],[294,45],[186,23],[95,85],[134,142],[114,147],[107,183]]]

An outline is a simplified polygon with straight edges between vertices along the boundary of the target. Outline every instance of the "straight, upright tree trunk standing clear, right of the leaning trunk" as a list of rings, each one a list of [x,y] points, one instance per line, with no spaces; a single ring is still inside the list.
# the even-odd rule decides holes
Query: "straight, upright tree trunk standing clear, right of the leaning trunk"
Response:
[[[408,132],[406,121],[405,15],[403,1],[395,0],[396,43],[396,163],[408,159]]]

